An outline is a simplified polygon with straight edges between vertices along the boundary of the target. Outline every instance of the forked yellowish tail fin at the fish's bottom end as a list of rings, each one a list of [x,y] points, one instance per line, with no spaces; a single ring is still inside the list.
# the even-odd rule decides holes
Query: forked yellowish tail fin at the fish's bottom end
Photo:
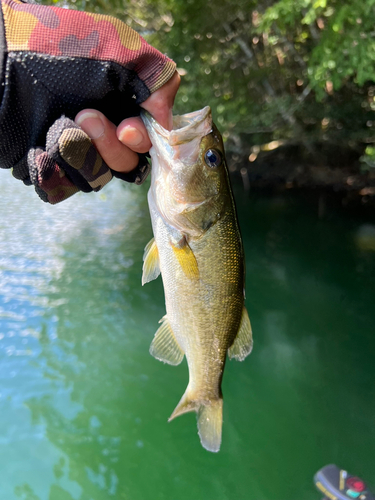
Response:
[[[221,398],[209,401],[194,400],[189,390],[186,390],[168,422],[190,411],[195,411],[198,414],[198,434],[203,448],[218,452],[221,445],[223,400]]]

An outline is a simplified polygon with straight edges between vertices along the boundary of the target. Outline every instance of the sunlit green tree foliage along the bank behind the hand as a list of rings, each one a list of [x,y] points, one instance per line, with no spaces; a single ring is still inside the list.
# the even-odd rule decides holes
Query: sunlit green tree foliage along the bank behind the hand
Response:
[[[176,111],[209,104],[243,152],[375,142],[375,0],[64,2],[115,15],[166,52],[183,75]]]

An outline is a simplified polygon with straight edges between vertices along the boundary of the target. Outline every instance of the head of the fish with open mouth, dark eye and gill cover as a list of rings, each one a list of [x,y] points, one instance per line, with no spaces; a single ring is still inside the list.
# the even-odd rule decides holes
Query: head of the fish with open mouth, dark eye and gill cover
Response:
[[[151,191],[157,208],[170,225],[199,237],[230,203],[223,141],[211,110],[174,116],[171,131],[149,114],[142,119],[153,145]]]

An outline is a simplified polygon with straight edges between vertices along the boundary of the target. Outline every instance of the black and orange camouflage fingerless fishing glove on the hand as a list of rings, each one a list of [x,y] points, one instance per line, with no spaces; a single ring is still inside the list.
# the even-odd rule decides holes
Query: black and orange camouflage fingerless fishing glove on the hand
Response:
[[[141,183],[145,155],[134,171],[118,174],[73,119],[84,108],[115,124],[138,115],[175,64],[109,16],[18,0],[1,7],[0,167],[13,168],[50,203],[98,191],[112,175]]]

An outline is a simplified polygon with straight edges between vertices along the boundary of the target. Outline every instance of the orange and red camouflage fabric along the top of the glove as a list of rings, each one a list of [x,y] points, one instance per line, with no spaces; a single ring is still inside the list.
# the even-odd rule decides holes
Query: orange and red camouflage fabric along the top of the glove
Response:
[[[175,64],[118,19],[37,4],[2,1],[7,48],[12,51],[114,61],[135,71],[153,92]]]

